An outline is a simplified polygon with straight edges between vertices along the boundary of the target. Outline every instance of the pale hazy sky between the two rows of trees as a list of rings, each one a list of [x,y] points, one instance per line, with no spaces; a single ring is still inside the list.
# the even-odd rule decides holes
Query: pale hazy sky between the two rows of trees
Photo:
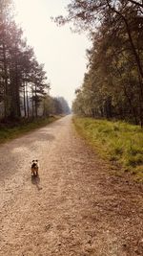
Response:
[[[66,13],[69,0],[14,0],[17,22],[41,63],[45,63],[51,95],[64,96],[72,104],[75,88],[86,71],[86,35],[73,34],[70,25],[57,27],[51,16]]]

